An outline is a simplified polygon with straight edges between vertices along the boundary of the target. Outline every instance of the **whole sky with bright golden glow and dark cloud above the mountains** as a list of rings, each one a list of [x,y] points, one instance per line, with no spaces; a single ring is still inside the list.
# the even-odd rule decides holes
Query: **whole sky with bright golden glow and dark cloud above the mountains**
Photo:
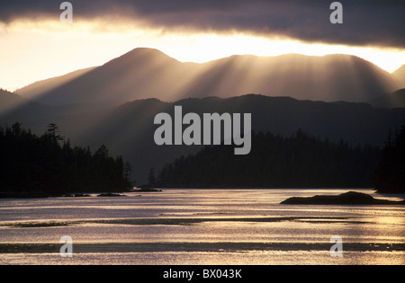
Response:
[[[58,0],[0,3],[0,87],[100,66],[131,49],[159,49],[179,61],[231,55],[350,54],[388,72],[405,64],[403,0],[71,0],[73,22],[60,22]]]

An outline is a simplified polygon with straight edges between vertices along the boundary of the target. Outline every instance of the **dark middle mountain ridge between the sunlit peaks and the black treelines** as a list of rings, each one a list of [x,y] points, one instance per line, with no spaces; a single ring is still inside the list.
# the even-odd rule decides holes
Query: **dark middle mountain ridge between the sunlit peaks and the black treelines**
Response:
[[[243,95],[229,99],[185,99],[161,102],[157,99],[127,102],[121,106],[105,103],[49,106],[31,102],[22,108],[0,115],[0,123],[15,121],[43,134],[49,123],[56,123],[73,145],[99,148],[102,145],[112,155],[122,155],[133,167],[139,183],[147,180],[151,167],[159,170],[181,155],[190,155],[202,146],[157,146],[154,142],[154,118],[166,112],[174,117],[175,106],[182,106],[184,114],[252,113],[255,132],[271,132],[290,137],[298,129],[338,143],[341,139],[351,146],[383,146],[389,130],[401,128],[405,109],[374,108],[365,103],[311,102],[288,97]]]

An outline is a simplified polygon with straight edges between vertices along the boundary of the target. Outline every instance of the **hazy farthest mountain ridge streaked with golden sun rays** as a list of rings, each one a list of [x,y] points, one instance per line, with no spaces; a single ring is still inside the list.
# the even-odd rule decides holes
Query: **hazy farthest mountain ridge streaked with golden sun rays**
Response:
[[[63,84],[60,84],[63,82]],[[37,102],[131,102],[245,93],[324,102],[368,102],[399,87],[392,75],[362,58],[231,56],[208,63],[182,63],[157,49],[133,49],[103,66],[29,85],[16,93]]]

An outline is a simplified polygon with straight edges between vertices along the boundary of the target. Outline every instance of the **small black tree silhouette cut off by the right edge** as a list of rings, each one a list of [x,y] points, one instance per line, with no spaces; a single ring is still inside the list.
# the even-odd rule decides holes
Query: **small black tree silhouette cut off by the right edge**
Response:
[[[379,192],[405,193],[405,125],[395,135],[390,133],[385,143],[375,188]]]

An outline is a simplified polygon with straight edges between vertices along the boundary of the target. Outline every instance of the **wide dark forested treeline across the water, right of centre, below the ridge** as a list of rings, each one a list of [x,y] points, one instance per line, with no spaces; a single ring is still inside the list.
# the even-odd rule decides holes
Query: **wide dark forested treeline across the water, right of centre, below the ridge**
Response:
[[[169,188],[369,188],[380,149],[321,141],[302,130],[293,137],[253,133],[250,155],[234,146],[207,146],[181,157],[157,176]]]

